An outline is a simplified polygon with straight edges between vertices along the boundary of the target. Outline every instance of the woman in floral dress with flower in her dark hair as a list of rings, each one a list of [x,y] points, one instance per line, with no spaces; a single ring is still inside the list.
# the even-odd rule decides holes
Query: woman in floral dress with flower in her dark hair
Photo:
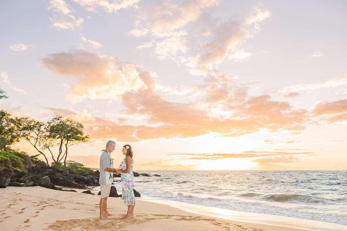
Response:
[[[123,146],[122,153],[125,156],[119,165],[122,182],[122,200],[128,206],[127,214],[121,220],[134,217],[135,195],[134,195],[134,173],[133,173],[133,150],[129,144]]]

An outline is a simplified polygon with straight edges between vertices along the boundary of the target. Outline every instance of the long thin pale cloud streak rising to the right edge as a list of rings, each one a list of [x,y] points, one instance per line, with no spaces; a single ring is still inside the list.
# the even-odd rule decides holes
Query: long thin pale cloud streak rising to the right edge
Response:
[[[313,90],[320,89],[325,87],[338,87],[347,84],[347,72],[344,72],[340,75],[336,75],[331,79],[322,81],[322,82],[314,82],[314,83],[306,83],[295,86],[290,86],[286,88],[282,88],[279,91],[299,91],[299,90]]]

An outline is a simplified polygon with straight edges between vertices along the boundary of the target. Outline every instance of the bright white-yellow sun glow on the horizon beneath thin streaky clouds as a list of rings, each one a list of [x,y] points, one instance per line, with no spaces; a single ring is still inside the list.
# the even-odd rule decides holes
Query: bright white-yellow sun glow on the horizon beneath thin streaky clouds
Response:
[[[195,170],[249,170],[258,165],[249,158],[228,158],[217,160],[203,160],[204,163],[197,166]]]

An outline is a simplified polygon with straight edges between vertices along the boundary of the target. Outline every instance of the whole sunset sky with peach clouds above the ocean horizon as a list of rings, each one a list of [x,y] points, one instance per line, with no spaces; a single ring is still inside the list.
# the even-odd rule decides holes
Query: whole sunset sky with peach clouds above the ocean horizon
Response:
[[[91,168],[113,140],[116,162],[132,146],[135,170],[346,170],[346,9],[1,1],[0,108],[82,123],[91,141],[68,160]]]

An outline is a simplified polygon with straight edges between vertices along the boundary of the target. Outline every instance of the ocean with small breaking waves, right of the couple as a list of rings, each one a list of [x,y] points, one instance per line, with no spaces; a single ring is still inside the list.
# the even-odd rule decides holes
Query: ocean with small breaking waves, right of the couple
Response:
[[[161,175],[135,177],[134,188],[141,198],[347,225],[347,171],[137,172]],[[120,182],[113,184],[121,190]]]

